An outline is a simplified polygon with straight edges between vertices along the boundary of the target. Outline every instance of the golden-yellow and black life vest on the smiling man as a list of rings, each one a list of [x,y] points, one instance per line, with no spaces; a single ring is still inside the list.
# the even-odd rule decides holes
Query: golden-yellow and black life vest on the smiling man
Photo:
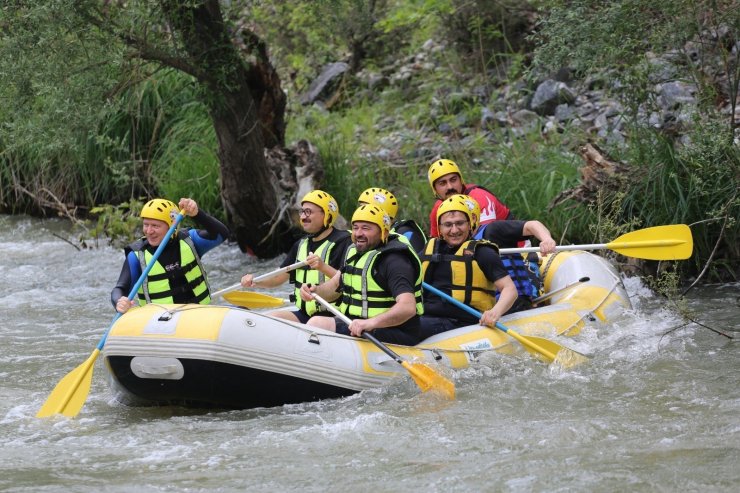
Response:
[[[481,246],[498,247],[487,240],[468,240],[455,253],[439,253],[442,242],[432,238],[421,255],[424,280],[439,288],[449,288],[450,296],[481,312],[496,304],[496,288],[475,261],[475,250]],[[445,289],[447,290],[447,289]]]

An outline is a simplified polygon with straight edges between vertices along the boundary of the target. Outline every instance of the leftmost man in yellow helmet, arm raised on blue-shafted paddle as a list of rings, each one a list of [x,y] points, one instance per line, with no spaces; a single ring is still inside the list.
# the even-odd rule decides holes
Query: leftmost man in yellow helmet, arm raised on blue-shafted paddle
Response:
[[[176,231],[171,239],[166,239],[165,234],[180,210],[203,229]],[[224,242],[229,236],[228,228],[199,210],[195,200],[189,198],[180,199],[178,205],[166,199],[150,200],[144,204],[140,216],[144,237],[124,249],[126,260],[111,292],[111,302],[116,310],[125,313],[131,308],[133,300],[127,297],[129,290],[162,241],[167,241],[167,246],[139,289],[139,302],[210,303],[210,289],[200,258]]]

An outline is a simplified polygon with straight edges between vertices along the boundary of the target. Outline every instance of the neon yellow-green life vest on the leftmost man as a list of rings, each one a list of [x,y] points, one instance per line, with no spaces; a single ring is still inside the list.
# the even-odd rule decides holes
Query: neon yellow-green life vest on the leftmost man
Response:
[[[154,262],[137,293],[139,300],[145,303],[166,304],[175,303],[177,297],[178,300],[187,299],[187,303],[207,305],[211,302],[210,288],[193,240],[182,231],[177,233],[175,238],[180,248],[180,266],[167,271],[159,260]],[[145,240],[129,245],[129,248],[136,252],[142,272],[154,256],[145,247]]]

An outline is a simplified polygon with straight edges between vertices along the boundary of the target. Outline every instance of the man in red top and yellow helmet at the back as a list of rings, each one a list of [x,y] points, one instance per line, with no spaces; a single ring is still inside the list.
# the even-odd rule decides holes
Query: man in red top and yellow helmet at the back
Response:
[[[463,181],[460,168],[454,161],[449,159],[438,159],[434,161],[427,171],[429,186],[432,188],[437,199],[429,214],[430,230],[429,236],[439,236],[437,229],[437,208],[448,197],[456,194],[470,195],[478,202],[481,209],[480,224],[488,224],[492,221],[513,219],[511,211],[493,193],[485,188]]]

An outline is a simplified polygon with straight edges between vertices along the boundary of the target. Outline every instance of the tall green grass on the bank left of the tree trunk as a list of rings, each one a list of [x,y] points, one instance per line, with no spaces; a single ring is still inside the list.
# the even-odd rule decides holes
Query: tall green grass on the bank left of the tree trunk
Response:
[[[38,212],[164,196],[218,215],[213,127],[189,77],[156,72],[101,108],[76,140],[0,142],[0,210]]]

